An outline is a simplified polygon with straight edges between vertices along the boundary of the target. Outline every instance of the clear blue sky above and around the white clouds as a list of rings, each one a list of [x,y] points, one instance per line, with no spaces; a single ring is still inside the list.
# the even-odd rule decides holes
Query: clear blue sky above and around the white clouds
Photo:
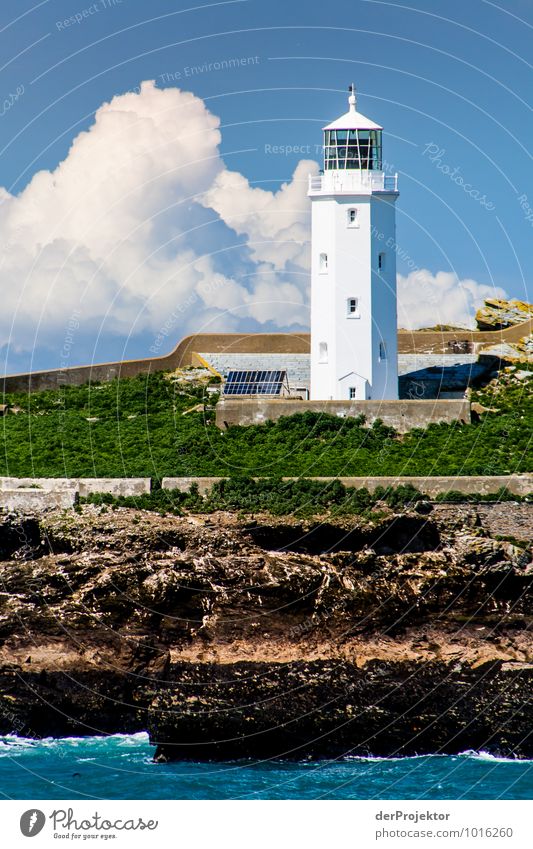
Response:
[[[345,111],[353,80],[358,108],[384,126],[384,158],[400,174],[399,273],[451,273],[530,298],[529,0],[3,0],[0,35],[0,185],[11,195],[36,172],[54,172],[99,107],[143,80],[201,98],[220,119],[225,166],[251,186],[275,191],[291,180],[299,160],[320,159],[320,128]],[[244,61],[227,67],[230,59]],[[283,152],[274,153],[276,146]],[[295,150],[287,154],[287,147]],[[165,229],[172,229],[172,218]],[[236,234],[228,216],[209,233],[219,250],[242,247],[216,271],[244,279],[250,234]],[[201,237],[194,249],[201,253]],[[296,265],[287,261],[289,277]],[[16,288],[17,266],[9,267],[2,286]],[[280,285],[282,277],[276,277]],[[58,302],[61,297],[58,288]],[[202,303],[191,305],[183,329],[194,326],[196,310],[204,321]],[[109,321],[108,307],[98,322],[93,315],[84,324],[83,315],[82,308],[72,362],[148,354],[157,322],[159,329],[164,324],[158,315],[126,330]],[[66,314],[60,328],[68,320]],[[276,321],[249,315],[241,324],[228,322],[228,329],[277,329]],[[305,320],[297,318],[289,329],[301,326]],[[32,326],[14,312],[9,327],[2,338],[8,371],[59,365],[61,329],[53,322],[47,332],[46,317]],[[167,330],[160,353],[177,341],[179,320]]]

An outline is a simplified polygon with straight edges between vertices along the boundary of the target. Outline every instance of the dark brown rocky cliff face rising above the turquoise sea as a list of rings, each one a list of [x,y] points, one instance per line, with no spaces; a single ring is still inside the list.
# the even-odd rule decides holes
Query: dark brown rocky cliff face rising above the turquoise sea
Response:
[[[533,756],[531,506],[5,517],[0,732],[158,759]]]

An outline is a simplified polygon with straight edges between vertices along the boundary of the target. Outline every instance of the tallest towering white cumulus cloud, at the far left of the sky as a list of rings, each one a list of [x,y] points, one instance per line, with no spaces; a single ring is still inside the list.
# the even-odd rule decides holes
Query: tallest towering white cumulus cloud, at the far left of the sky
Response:
[[[54,171],[2,192],[3,344],[11,320],[18,339],[46,343],[74,311],[86,331],[105,320],[127,334],[139,314],[139,327],[157,326],[175,293],[190,293],[195,257],[160,232],[171,215],[187,229],[187,199],[222,167],[218,124],[193,95],[144,83],[103,104]]]

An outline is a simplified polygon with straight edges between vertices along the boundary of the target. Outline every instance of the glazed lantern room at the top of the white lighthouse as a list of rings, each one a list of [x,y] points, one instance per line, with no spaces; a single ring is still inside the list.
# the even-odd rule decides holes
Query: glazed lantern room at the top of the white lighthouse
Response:
[[[381,130],[326,130],[326,171],[381,171]]]

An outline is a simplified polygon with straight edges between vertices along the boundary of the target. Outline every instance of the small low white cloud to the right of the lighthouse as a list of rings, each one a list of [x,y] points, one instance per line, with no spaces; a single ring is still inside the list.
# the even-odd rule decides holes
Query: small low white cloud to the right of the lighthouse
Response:
[[[485,298],[506,298],[499,286],[460,280],[456,274],[427,268],[398,275],[398,326],[406,330],[452,324],[474,327],[474,315]]]

